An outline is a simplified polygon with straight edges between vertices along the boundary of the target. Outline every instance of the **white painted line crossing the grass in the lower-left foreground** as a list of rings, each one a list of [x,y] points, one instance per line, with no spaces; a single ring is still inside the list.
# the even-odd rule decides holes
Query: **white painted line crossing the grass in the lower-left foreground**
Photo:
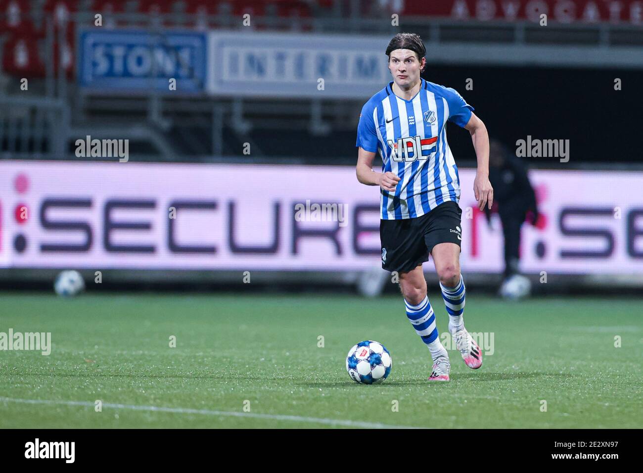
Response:
[[[15,399],[0,397],[0,402],[15,402],[22,404],[58,404],[58,405],[80,405],[84,407],[94,407],[93,402],[87,401],[53,401],[39,399]],[[388,425],[385,423],[361,422],[357,420],[340,420],[325,419],[318,417],[288,416],[285,414],[256,414],[256,413],[237,413],[233,411],[209,411],[208,409],[188,409],[183,407],[158,407],[155,405],[133,405],[133,404],[113,404],[104,402],[103,407],[112,407],[113,409],[131,409],[132,411],[150,411],[160,413],[175,414],[202,414],[206,416],[228,416],[228,417],[249,417],[255,419],[269,420],[290,420],[293,422],[310,422],[322,423],[325,425],[343,425],[344,427],[363,427],[365,429],[421,429],[422,427],[410,427],[408,425]]]

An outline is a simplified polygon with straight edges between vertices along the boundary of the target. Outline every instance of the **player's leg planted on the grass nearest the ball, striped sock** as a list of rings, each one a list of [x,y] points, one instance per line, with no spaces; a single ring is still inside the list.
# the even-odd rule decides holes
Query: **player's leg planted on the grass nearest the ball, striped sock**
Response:
[[[431,303],[426,296],[426,279],[424,279],[422,265],[420,264],[411,271],[401,272],[399,280],[400,290],[406,304],[406,317],[431,352],[433,370],[429,380],[448,381],[451,368],[449,355],[440,343],[435,324],[435,313],[433,313]]]

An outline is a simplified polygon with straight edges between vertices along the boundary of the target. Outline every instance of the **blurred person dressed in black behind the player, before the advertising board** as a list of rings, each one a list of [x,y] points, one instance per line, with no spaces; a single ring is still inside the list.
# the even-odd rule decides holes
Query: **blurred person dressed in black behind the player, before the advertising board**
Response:
[[[520,254],[518,252],[520,228],[525,220],[536,226],[538,205],[534,188],[527,176],[525,163],[495,139],[489,140],[489,181],[494,189],[495,205],[493,209],[485,207],[484,210],[487,224],[490,227],[491,213],[496,209],[502,222],[502,232],[505,239],[505,270],[503,272],[503,287],[505,287],[508,281],[512,281],[512,277],[520,274]],[[500,292],[503,293],[503,288]],[[527,292],[529,292],[528,288]],[[522,295],[526,294],[517,295],[516,298]]]

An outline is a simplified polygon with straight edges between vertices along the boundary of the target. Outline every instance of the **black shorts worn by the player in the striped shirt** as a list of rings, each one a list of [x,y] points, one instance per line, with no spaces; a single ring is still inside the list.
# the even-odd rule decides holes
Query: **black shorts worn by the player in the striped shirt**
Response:
[[[421,217],[380,220],[382,268],[404,273],[429,261],[438,243],[462,243],[462,209],[452,200],[442,202]]]

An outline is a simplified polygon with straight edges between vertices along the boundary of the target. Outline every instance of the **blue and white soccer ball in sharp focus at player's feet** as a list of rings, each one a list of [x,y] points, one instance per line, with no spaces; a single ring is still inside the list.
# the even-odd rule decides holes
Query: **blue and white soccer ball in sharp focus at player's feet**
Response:
[[[346,371],[356,383],[381,383],[391,372],[391,354],[381,343],[372,340],[359,342],[346,357]]]

